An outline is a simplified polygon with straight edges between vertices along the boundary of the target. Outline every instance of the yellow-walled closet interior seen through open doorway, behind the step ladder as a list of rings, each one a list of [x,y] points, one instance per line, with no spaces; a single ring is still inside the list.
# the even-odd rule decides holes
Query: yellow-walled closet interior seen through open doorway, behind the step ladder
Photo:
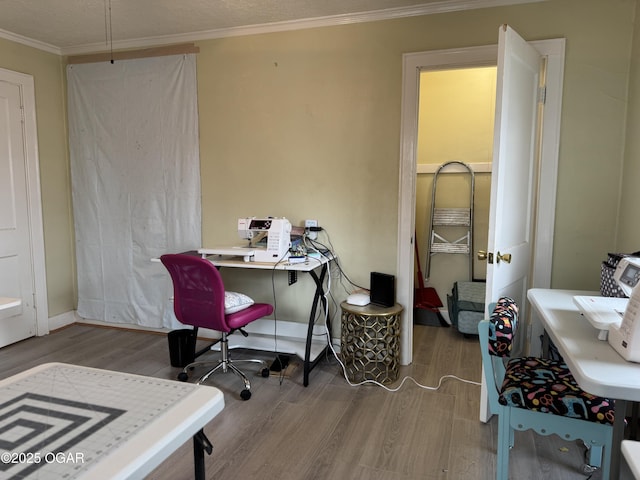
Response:
[[[474,198],[469,227],[445,227],[447,240],[473,237],[472,250],[486,250],[489,221],[496,67],[425,69],[420,72],[418,139],[416,150],[416,246],[427,286],[436,290],[448,319],[446,296],[456,281],[481,281],[486,263],[467,254],[430,255],[433,178],[445,162],[460,161],[473,170],[447,167],[438,175],[438,208],[466,208]],[[473,190],[473,192],[472,192]],[[436,232],[438,233],[438,232]],[[467,243],[467,242],[465,242]]]

